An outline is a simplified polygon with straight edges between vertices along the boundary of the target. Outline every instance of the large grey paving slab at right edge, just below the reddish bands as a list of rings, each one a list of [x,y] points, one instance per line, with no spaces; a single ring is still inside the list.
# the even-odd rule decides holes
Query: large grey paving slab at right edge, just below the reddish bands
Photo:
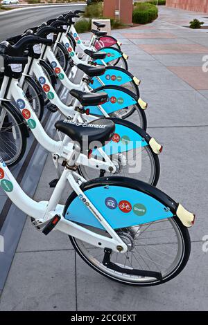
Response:
[[[148,127],[208,124],[208,102],[197,91],[142,91],[141,98],[148,102]]]

